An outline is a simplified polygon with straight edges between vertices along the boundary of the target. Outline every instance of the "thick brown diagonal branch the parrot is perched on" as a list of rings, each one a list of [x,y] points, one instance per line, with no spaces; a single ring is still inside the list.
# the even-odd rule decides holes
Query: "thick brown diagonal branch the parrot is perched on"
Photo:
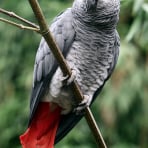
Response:
[[[48,46],[50,47],[51,51],[53,52],[53,55],[55,56],[56,60],[58,61],[59,63],[59,66],[63,72],[64,75],[71,75],[71,70],[68,66],[68,64],[66,63],[66,60],[64,59],[64,56],[62,55],[61,53],[61,50],[57,47],[52,35],[51,35],[51,32],[49,30],[49,27],[45,21],[45,18],[44,18],[44,15],[43,15],[43,12],[39,6],[39,3],[37,2],[37,0],[29,0],[30,2],[30,5],[32,7],[32,10],[34,11],[34,14],[36,16],[36,19],[39,23],[39,26],[40,26],[40,31],[42,33],[42,36],[44,37],[44,39],[46,40]],[[77,99],[79,101],[82,101],[83,100],[83,94],[81,93],[78,85],[76,84],[76,82],[73,82],[72,83],[72,88],[74,90],[74,92],[76,93],[76,96],[77,96]],[[106,148],[106,144],[104,142],[104,139],[101,135],[101,132],[97,126],[97,123],[95,122],[95,119],[91,113],[91,110],[89,107],[87,107],[85,109],[85,118],[87,120],[87,123],[94,135],[94,138],[96,140],[96,143],[97,145],[100,147],[100,148]]]

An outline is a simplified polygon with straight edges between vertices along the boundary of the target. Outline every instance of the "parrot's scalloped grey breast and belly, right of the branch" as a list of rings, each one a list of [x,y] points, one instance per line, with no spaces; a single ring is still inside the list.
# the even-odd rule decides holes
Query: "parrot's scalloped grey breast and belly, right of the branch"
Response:
[[[77,71],[76,81],[83,94],[93,96],[103,85],[114,62],[114,50],[113,34],[91,31],[85,34],[79,30],[67,61]]]

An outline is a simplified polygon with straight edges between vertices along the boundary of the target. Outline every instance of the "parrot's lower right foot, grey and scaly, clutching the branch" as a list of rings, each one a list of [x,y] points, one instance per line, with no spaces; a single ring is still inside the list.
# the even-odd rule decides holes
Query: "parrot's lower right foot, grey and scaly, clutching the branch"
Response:
[[[83,114],[85,108],[87,108],[91,103],[91,97],[89,95],[84,95],[82,102],[74,109],[77,115]]]

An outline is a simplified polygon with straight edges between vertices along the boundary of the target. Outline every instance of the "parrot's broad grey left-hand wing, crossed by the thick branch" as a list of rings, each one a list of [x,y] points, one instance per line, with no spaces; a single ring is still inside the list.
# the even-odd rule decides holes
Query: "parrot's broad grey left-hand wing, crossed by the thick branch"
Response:
[[[67,9],[55,18],[50,27],[50,31],[64,56],[68,53],[75,36],[72,19],[71,9]],[[56,71],[57,67],[58,64],[53,54],[51,53],[45,40],[42,39],[36,54],[34,65],[34,82],[30,100],[29,125],[32,121],[38,103],[46,93],[46,89],[48,88],[52,75]]]

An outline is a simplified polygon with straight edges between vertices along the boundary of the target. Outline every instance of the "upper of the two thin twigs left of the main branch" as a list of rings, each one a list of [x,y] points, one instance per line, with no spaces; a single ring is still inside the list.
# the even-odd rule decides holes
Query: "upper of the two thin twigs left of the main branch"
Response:
[[[39,26],[37,26],[36,24],[34,24],[34,23],[32,23],[32,22],[30,22],[30,21],[16,15],[14,12],[10,12],[10,11],[7,11],[7,10],[4,10],[4,9],[0,8],[0,13],[3,13],[3,14],[8,15],[10,17],[13,17],[13,18],[27,24],[30,27],[39,29]]]

